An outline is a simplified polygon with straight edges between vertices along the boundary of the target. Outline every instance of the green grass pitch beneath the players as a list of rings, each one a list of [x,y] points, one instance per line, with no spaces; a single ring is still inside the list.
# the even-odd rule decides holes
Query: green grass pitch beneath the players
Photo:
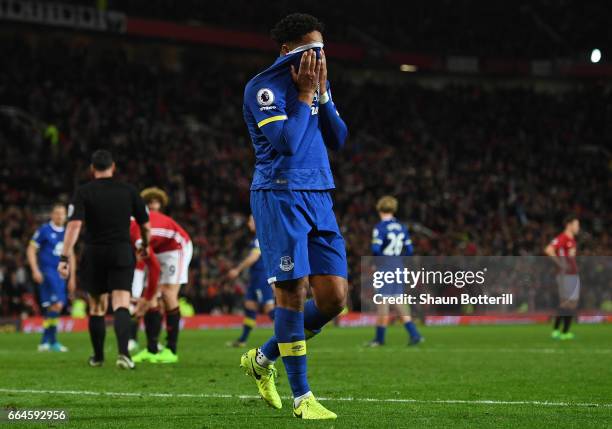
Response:
[[[578,325],[567,342],[551,340],[542,325],[427,327],[416,348],[396,326],[376,349],[362,347],[373,328],[326,328],[309,342],[308,364],[335,422],[291,416],[280,362],[284,408],[266,407],[238,367],[243,350],[225,346],[237,332],[184,331],[178,365],[131,372],[114,366],[111,329],[102,368],[86,366],[86,333],[61,334],[64,354],[37,353],[38,335],[0,334],[0,405],[69,412],[66,423],[6,427],[612,427],[612,325]],[[256,329],[250,344],[270,332]]]

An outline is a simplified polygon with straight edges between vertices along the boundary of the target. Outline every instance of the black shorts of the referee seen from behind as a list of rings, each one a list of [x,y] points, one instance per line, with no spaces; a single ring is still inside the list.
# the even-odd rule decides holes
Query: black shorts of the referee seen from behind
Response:
[[[136,257],[129,244],[86,245],[81,266],[81,283],[92,295],[132,290]]]

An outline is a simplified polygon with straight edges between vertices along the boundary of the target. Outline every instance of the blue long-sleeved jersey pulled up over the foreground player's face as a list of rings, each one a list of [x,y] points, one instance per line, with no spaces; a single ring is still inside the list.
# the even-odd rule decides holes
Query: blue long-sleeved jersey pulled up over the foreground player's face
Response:
[[[346,125],[329,89],[324,104],[319,91],[312,105],[299,101],[290,72],[292,64],[298,69],[305,51],[314,49],[319,55],[321,48],[322,43],[312,43],[280,56],[246,85],[243,114],[255,149],[251,190],[335,187],[327,148],[344,145]]]

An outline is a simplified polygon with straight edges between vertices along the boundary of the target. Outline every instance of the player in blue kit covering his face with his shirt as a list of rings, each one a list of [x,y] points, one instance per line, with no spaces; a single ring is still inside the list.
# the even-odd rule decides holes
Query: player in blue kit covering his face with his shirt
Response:
[[[255,149],[251,210],[267,281],[275,285],[274,336],[241,358],[262,398],[281,408],[274,362],[280,356],[293,392],[293,414],[335,419],[313,396],[306,377],[307,338],[346,302],[344,239],[330,194],[327,150],[345,142],[347,127],[331,97],[323,25],[291,14],[272,38],[280,56],[246,85],[244,119]],[[313,299],[306,301],[310,286]]]

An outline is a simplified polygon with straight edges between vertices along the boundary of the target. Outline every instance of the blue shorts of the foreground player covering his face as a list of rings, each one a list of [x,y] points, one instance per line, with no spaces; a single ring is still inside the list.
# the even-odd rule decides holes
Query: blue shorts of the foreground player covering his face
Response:
[[[268,283],[347,277],[344,238],[328,191],[251,191],[251,210]]]

